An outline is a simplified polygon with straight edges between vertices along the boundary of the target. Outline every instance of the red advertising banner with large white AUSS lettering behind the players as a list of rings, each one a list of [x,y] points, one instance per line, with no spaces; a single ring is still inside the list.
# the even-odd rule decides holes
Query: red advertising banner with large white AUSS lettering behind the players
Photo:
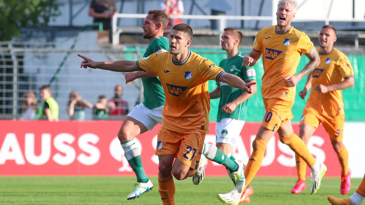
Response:
[[[117,133],[122,121],[0,121],[0,175],[134,175],[123,155]],[[235,158],[247,163],[260,123],[246,123],[235,144]],[[147,175],[157,175],[154,155],[160,125],[137,136]],[[293,124],[296,134],[299,126]],[[215,144],[215,123],[205,142]],[[308,147],[328,167],[326,176],[341,173],[337,155],[322,126]],[[351,155],[351,150],[349,150]],[[226,169],[207,160],[206,175],[226,175]],[[307,174],[310,174],[307,169]],[[277,134],[270,140],[258,176],[296,176],[294,152]]]

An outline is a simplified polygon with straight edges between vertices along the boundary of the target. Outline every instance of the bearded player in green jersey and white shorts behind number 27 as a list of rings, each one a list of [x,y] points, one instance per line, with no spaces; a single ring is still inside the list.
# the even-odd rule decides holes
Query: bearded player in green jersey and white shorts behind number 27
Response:
[[[143,57],[153,53],[167,52],[169,42],[163,37],[164,30],[168,23],[168,16],[162,10],[150,10],[142,24],[143,38],[149,40],[149,45]],[[123,120],[122,127],[118,132],[118,139],[124,150],[129,165],[135,172],[137,183],[134,190],[127,196],[132,200],[153,188],[151,180],[146,176],[142,166],[141,150],[135,143],[135,137],[139,134],[152,130],[155,125],[162,123],[162,109],[165,104],[165,94],[160,80],[148,72],[135,72],[126,74],[126,83],[135,78],[141,78],[145,101],[136,105],[127,117]]]

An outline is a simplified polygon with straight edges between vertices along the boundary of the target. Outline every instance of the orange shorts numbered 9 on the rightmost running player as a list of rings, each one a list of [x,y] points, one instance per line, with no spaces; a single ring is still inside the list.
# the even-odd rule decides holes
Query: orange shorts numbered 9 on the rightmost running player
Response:
[[[311,125],[314,129],[317,129],[319,123],[323,124],[323,127],[326,129],[328,135],[330,135],[331,140],[337,142],[342,140],[345,115],[320,115],[314,108],[305,107],[299,125],[307,124]]]

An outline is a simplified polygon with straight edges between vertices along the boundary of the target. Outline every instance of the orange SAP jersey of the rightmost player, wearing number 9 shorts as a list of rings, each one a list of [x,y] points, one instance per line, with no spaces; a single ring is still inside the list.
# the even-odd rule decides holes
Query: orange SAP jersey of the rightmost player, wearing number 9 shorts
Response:
[[[319,53],[319,50],[318,50]],[[354,76],[349,58],[341,51],[333,49],[328,54],[319,53],[320,64],[312,72],[312,89],[306,107],[312,107],[320,115],[343,115],[342,91],[334,90],[328,93],[319,93],[315,86],[333,85],[344,78]]]

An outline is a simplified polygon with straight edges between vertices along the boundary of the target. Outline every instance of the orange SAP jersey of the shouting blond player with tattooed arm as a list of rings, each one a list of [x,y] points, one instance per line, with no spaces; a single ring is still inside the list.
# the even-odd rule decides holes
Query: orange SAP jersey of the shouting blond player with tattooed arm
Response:
[[[264,64],[261,93],[263,98],[293,101],[295,87],[289,87],[284,78],[295,74],[301,54],[309,53],[313,43],[294,27],[285,33],[277,33],[275,27],[262,28],[253,44],[255,51],[261,51]]]

